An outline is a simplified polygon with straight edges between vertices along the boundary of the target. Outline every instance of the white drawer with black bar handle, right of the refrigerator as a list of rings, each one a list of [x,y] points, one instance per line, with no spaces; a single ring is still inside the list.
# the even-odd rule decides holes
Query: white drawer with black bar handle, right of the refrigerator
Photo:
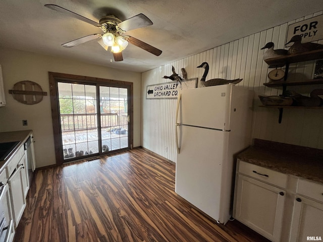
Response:
[[[281,188],[287,187],[288,175],[275,170],[267,169],[240,160],[239,172]]]

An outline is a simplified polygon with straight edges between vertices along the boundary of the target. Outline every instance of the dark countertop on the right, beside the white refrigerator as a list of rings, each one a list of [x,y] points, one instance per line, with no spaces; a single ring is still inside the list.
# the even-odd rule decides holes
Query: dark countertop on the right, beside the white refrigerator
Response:
[[[238,159],[323,184],[323,150],[254,140]]]

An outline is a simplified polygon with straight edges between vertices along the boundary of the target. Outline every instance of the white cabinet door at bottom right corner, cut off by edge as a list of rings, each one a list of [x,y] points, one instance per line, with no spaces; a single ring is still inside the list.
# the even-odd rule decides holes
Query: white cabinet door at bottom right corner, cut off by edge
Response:
[[[323,239],[323,204],[300,196],[295,198],[290,242]],[[317,239],[316,239],[317,240]]]

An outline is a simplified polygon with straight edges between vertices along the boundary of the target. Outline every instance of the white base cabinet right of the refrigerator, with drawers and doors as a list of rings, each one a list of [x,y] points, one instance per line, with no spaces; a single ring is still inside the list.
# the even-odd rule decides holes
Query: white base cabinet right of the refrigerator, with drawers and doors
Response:
[[[323,185],[238,160],[233,217],[271,241],[323,239]]]

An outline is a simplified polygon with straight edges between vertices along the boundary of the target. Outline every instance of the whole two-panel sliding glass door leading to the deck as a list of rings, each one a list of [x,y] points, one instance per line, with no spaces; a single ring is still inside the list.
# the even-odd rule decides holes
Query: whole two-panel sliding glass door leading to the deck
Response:
[[[132,88],[124,83],[56,80],[57,106],[52,103],[52,116],[53,130],[59,134],[55,136],[58,163],[130,149]]]

